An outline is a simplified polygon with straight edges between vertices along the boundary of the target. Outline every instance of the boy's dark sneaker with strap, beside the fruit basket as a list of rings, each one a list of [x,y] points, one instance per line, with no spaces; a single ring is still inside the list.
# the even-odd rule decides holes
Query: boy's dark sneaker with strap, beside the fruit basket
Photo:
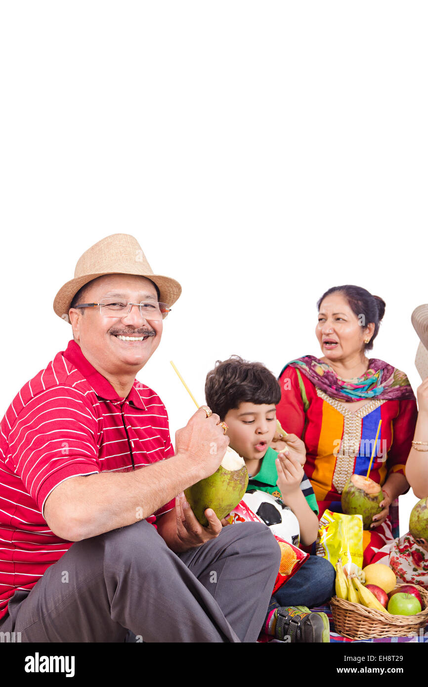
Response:
[[[326,613],[311,613],[306,606],[282,606],[277,610],[275,638],[295,643],[330,642],[330,623]]]

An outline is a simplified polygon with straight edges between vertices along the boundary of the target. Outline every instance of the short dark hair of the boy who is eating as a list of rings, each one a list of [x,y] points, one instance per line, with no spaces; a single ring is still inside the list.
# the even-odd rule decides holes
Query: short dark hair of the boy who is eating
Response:
[[[213,413],[224,420],[240,403],[277,405],[281,387],[272,372],[262,363],[249,363],[238,355],[216,361],[214,370],[207,374],[205,398]]]

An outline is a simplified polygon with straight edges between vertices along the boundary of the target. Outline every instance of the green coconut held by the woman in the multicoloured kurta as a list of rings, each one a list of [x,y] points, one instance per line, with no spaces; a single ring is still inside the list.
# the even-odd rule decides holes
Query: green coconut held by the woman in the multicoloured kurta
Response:
[[[341,504],[346,515],[362,515],[363,530],[370,530],[373,516],[379,513],[384,499],[380,484],[363,475],[351,475],[343,487]]]

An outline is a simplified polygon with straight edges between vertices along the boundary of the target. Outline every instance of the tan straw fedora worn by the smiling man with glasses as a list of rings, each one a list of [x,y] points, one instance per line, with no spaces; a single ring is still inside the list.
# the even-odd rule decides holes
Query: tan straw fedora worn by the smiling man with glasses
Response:
[[[74,279],[64,284],[54,300],[54,311],[69,322],[71,301],[82,286],[104,274],[135,274],[154,282],[159,289],[159,300],[172,306],[181,294],[181,286],[170,277],[153,274],[138,241],[130,234],[111,234],[91,246],[80,256],[74,270]]]

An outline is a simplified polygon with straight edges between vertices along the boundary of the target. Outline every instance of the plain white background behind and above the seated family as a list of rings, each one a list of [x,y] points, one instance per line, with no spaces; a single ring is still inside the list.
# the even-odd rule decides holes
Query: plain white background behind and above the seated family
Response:
[[[64,350],[78,257],[133,234],[183,294],[139,379],[173,432],[217,359],[318,354],[328,287],[383,297],[416,390],[428,302],[425,2],[3,1],[0,412]],[[401,532],[416,498],[402,497]]]

